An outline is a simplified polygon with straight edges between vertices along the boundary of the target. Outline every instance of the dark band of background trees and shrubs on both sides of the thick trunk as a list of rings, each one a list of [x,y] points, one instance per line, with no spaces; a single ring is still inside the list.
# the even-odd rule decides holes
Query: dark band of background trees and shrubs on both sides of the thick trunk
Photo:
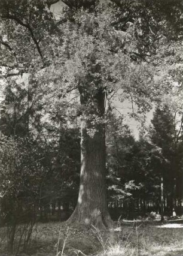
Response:
[[[1,199],[1,213],[7,214],[1,223],[13,214],[19,215],[20,209],[29,210],[44,221],[68,218],[77,203],[80,182],[80,132],[75,122],[73,128],[59,127],[57,131],[49,126],[45,141],[44,136],[35,138],[31,132],[29,137],[25,135],[24,119],[21,127],[25,132],[7,134],[11,124],[6,121],[7,115],[4,105],[0,122],[1,180],[6,182],[2,186],[7,186],[7,192]],[[115,113],[110,116],[106,130],[106,185],[112,217],[161,213],[162,177],[164,215],[181,214],[182,131],[175,127],[170,108],[155,109],[148,133],[141,132],[139,140],[135,140],[123,118]],[[10,120],[14,121],[13,115]]]

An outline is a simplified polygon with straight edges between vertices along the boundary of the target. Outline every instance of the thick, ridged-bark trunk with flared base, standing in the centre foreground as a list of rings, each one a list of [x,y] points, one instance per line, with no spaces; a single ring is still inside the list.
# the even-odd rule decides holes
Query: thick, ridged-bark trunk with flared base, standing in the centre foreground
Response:
[[[105,112],[104,93],[99,91],[95,100],[97,109],[94,114],[102,117]],[[112,221],[106,199],[105,124],[93,125],[86,113],[81,121],[80,191],[77,206],[68,222],[108,228]]]

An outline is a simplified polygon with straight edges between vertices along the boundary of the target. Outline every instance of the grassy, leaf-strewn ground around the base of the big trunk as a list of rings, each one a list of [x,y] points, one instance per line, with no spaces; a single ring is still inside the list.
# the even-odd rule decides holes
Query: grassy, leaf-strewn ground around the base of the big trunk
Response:
[[[123,221],[116,226],[108,232],[79,231],[64,222],[38,223],[28,251],[17,255],[183,256],[183,221]]]

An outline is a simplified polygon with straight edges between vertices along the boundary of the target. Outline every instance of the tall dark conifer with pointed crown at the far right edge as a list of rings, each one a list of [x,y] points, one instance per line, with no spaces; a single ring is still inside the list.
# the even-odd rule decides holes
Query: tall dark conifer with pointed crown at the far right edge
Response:
[[[154,146],[159,152],[159,164],[157,171],[160,172],[166,186],[166,193],[170,198],[168,204],[170,211],[175,212],[176,198],[179,191],[179,179],[181,179],[181,155],[179,148],[181,146],[182,124],[178,127],[176,123],[176,115],[169,105],[157,107],[152,119],[150,138]],[[175,213],[173,213],[175,214]]]

